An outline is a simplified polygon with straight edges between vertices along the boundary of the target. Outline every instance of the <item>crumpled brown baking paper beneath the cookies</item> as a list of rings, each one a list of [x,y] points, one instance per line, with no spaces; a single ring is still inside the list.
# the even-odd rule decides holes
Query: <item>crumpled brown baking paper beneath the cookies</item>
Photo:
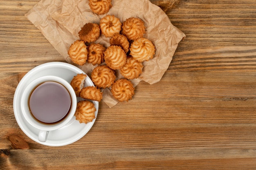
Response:
[[[146,26],[144,37],[153,42],[156,53],[153,59],[143,62],[144,68],[139,78],[131,81],[134,86],[141,80],[149,84],[159,82],[171,63],[178,43],[185,37],[184,33],[173,26],[164,11],[149,0],[112,0],[112,8],[104,15],[92,13],[88,3],[89,0],[41,0],[25,16],[40,29],[64,59],[73,65],[76,64],[71,61],[67,51],[70,45],[79,39],[78,32],[84,24],[99,24],[100,19],[108,14],[115,15],[121,22],[130,17],[140,18]],[[96,43],[110,46],[109,38],[104,35],[101,35]],[[95,67],[89,63],[76,66],[88,76]],[[117,79],[121,77],[117,71]],[[109,107],[118,103],[109,88],[102,91],[103,101]]]

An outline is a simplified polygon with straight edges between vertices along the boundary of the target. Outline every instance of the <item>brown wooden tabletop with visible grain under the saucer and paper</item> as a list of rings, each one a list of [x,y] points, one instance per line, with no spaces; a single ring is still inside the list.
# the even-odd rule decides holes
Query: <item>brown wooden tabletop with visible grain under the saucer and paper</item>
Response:
[[[61,147],[18,126],[13,95],[31,68],[65,62],[25,18],[39,0],[0,1],[1,170],[255,170],[256,1],[151,0],[186,34],[161,81],[99,104],[92,129]]]

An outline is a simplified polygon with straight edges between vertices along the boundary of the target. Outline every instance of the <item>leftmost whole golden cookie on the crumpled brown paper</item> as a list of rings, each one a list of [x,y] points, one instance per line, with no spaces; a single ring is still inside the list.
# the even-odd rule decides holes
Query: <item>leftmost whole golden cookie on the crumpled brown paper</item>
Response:
[[[73,44],[71,44],[67,54],[70,56],[72,62],[82,66],[86,63],[87,60],[87,46],[84,41],[76,40]]]

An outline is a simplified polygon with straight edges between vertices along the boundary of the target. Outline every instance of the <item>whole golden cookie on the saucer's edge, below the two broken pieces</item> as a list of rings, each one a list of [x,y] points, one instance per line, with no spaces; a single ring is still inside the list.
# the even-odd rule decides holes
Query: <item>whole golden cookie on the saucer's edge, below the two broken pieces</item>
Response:
[[[96,108],[94,104],[88,100],[77,103],[75,117],[80,123],[87,124],[95,119]]]

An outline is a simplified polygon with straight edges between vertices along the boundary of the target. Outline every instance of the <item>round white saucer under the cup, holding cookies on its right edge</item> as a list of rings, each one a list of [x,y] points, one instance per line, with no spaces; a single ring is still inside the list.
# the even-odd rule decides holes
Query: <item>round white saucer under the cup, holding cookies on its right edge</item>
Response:
[[[69,124],[58,130],[50,131],[46,142],[40,142],[38,140],[39,130],[28,124],[21,113],[21,95],[25,87],[32,80],[44,75],[55,75],[67,80],[67,82],[71,82],[72,78],[78,73],[85,74],[81,69],[73,66],[72,64],[67,64],[64,62],[49,62],[31,69],[31,71],[29,71],[20,80],[13,98],[13,110],[18,125],[29,138],[46,146],[65,146],[81,139],[92,128],[99,110],[99,102],[97,101],[92,101],[96,108],[95,119],[93,119],[92,122],[80,124],[79,121],[73,117]],[[88,76],[85,80],[85,86],[94,86],[93,82]],[[80,100],[82,99],[79,97],[78,101]]]

